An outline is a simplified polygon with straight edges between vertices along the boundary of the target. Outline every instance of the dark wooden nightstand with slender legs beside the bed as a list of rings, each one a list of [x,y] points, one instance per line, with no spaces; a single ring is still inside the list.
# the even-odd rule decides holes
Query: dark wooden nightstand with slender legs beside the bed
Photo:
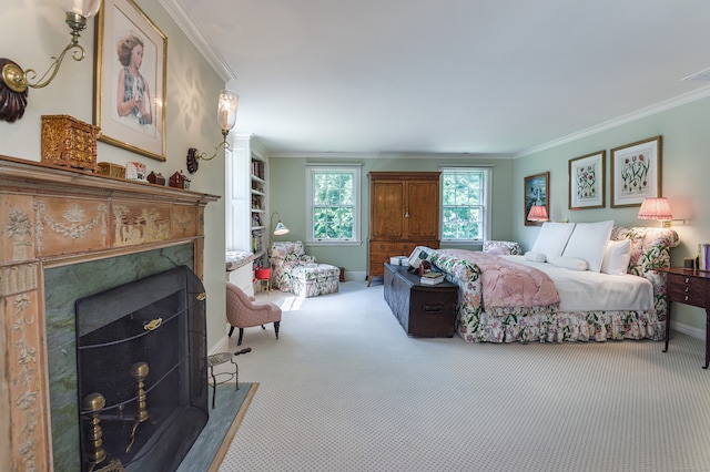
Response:
[[[704,270],[686,269],[674,267],[662,269],[667,274],[666,295],[668,296],[668,315],[666,316],[666,349],[668,351],[668,338],[670,335],[670,306],[671,302],[691,305],[706,310],[706,365],[710,365],[710,273]]]

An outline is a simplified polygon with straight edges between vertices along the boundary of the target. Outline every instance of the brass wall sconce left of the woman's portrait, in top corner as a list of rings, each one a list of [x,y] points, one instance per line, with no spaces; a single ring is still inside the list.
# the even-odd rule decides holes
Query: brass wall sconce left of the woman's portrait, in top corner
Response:
[[[84,59],[84,49],[79,44],[79,33],[87,28],[87,19],[94,17],[101,8],[101,0],[57,0],[65,12],[65,21],[71,28],[71,41],[67,48],[57,57],[52,57],[54,62],[37,81],[37,71],[28,69],[26,71],[16,62],[7,58],[0,58],[0,120],[14,122],[24,114],[27,107],[28,88],[41,89],[49,85],[54,80],[59,66],[64,60],[64,55],[71,51],[74,61]]]

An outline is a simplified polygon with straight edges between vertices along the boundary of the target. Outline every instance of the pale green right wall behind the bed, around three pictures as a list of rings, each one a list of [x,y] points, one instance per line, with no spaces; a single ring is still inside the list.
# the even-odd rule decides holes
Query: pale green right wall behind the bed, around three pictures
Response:
[[[694,257],[699,243],[710,242],[710,215],[704,205],[710,199],[708,171],[710,170],[710,99],[700,99],[670,110],[610,126],[605,131],[519,157],[514,164],[514,238],[529,250],[539,227],[524,226],[523,181],[526,176],[550,173],[550,218],[570,222],[613,219],[619,226],[660,226],[659,222],[638,219],[638,207],[611,208],[610,150],[647,137],[662,136],[661,194],[668,197],[673,217],[688,218],[683,225],[673,222],[680,246],[671,250],[671,264],[681,266],[683,257]],[[568,162],[589,153],[605,150],[606,207],[598,209],[568,209]],[[674,304],[672,320],[681,329],[690,328],[696,335],[704,329],[704,312],[699,308]]]

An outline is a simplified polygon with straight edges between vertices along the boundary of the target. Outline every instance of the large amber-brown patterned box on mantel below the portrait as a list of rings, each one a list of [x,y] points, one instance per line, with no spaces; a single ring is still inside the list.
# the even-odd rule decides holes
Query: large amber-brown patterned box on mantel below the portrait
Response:
[[[99,126],[69,115],[42,115],[42,162],[95,171]]]

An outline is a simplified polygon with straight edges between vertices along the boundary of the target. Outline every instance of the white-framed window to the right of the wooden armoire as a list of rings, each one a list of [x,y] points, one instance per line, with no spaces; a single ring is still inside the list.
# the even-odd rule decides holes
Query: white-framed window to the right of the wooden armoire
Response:
[[[490,170],[442,168],[442,239],[484,240],[489,237]]]

